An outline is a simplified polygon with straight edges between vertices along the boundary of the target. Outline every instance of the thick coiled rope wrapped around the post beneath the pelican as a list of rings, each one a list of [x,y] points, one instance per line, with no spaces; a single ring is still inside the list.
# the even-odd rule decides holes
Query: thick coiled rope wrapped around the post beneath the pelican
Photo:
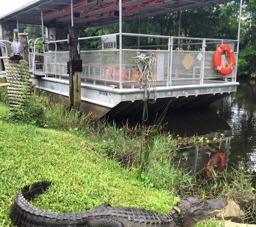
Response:
[[[28,65],[25,60],[20,60],[19,64],[8,62],[5,65],[11,111],[17,112],[24,108],[26,99],[31,96]]]

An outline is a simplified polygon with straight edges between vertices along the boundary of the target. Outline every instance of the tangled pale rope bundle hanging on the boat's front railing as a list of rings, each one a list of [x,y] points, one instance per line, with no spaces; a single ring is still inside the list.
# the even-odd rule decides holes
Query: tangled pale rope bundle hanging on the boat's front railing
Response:
[[[139,67],[140,62],[143,62],[142,68]],[[137,63],[138,68],[140,70],[139,83],[141,84],[141,88],[148,85],[147,86],[148,101],[149,101],[150,91],[153,89],[154,98],[153,98],[153,101],[149,101],[149,103],[155,103],[156,102],[156,80],[153,75],[153,67],[154,67],[154,63],[155,63],[155,57],[153,56],[153,53],[150,52],[149,55],[141,55],[140,52],[137,51],[135,63]]]

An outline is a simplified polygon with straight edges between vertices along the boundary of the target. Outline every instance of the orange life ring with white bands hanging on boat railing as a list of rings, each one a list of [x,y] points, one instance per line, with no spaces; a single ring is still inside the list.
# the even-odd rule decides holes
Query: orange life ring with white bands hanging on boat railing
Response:
[[[222,52],[227,52],[227,54],[229,54],[229,57],[230,57],[229,66],[227,66],[226,68],[223,67],[220,62],[220,55],[222,54]],[[226,44],[222,44],[222,45],[218,46],[218,48],[215,51],[215,55],[214,55],[214,63],[215,63],[216,70],[220,74],[222,74],[222,75],[230,74],[234,69],[234,65],[236,64],[236,59],[234,56],[233,49],[229,45],[226,45]]]

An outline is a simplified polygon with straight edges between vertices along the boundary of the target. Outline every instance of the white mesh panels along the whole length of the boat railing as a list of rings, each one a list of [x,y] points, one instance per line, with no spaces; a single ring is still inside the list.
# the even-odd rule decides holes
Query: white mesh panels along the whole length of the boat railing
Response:
[[[179,45],[181,45],[174,44],[174,39],[178,39],[180,43],[181,40],[184,39],[183,45],[186,44],[186,39],[191,40],[189,46],[187,45],[184,47],[184,49],[187,50],[183,50],[182,48],[177,48],[181,50],[172,50],[175,49],[176,46],[179,47]],[[156,81],[165,81],[167,82],[165,83],[167,86],[168,84],[171,86],[171,81],[175,80],[194,80],[194,83],[196,80],[199,80],[200,84],[202,84],[205,79],[221,80],[223,78],[232,78],[234,81],[236,78],[236,67],[232,73],[225,77],[217,73],[213,61],[215,51],[205,51],[206,44],[213,45],[214,49],[215,46],[217,47],[217,45],[223,43],[223,41],[231,42],[232,40],[182,37],[170,37],[170,40],[170,48],[166,51],[143,49],[122,49],[121,52],[119,49],[81,51],[80,58],[82,59],[83,69],[81,77],[88,81],[93,80],[94,83],[96,83],[96,81],[120,83],[120,87],[122,83],[137,83],[140,79],[140,72],[135,59],[139,51],[140,54],[151,54],[151,56],[155,58],[155,63],[152,69],[153,79]],[[194,49],[198,49],[198,51],[195,51]],[[237,59],[238,53],[235,53],[235,55]],[[66,69],[67,61],[69,59],[68,52],[45,52],[44,59],[46,76],[68,76]],[[226,61],[229,63],[229,56],[226,56]],[[122,76],[120,76],[121,74]],[[163,86],[163,83],[161,83],[161,86]]]

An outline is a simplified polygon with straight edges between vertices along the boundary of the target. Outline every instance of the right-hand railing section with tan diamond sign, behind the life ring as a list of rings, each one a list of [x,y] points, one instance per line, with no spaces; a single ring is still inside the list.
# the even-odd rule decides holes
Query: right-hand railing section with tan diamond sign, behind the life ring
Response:
[[[171,37],[169,85],[175,81],[181,84],[181,81],[188,80],[199,80],[200,84],[204,80],[236,81],[236,67],[230,74],[223,76],[215,69],[214,56],[217,46],[229,44],[235,49],[237,42],[238,40]],[[234,54],[237,61],[238,50]],[[228,55],[226,58],[229,62]]]

